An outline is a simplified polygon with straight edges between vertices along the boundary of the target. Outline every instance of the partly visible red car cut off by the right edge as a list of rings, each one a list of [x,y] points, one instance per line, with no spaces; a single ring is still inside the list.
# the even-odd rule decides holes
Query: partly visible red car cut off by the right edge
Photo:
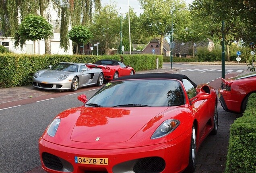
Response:
[[[221,79],[219,101],[225,111],[243,113],[246,109],[248,97],[256,92],[256,72]]]

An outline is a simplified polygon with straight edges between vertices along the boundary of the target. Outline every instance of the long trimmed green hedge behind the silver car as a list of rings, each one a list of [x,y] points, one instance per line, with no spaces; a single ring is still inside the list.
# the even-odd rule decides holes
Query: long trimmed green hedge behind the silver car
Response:
[[[136,71],[156,68],[156,59],[159,58],[159,68],[163,65],[163,56],[142,55],[27,55],[27,54],[0,54],[0,88],[23,86],[31,84],[33,74],[37,70],[47,69],[58,62],[94,63],[99,59],[121,60]]]

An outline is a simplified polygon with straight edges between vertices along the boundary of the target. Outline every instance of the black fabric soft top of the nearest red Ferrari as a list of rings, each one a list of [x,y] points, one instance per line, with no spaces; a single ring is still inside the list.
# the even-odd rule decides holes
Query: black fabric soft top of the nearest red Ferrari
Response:
[[[182,82],[183,79],[189,80],[194,87],[197,87],[197,84],[195,84],[188,76],[183,74],[170,74],[170,73],[145,73],[145,74],[134,74],[130,76],[123,76],[119,78],[115,78],[111,81],[115,80],[130,80],[130,79],[176,79],[180,80]]]

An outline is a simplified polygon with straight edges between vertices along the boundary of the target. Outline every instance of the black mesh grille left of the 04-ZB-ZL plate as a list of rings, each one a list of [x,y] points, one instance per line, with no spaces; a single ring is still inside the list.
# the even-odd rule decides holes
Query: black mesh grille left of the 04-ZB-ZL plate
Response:
[[[54,169],[56,171],[62,171],[63,170],[63,165],[60,161],[60,159],[52,155],[50,153],[43,153],[42,154],[42,159],[43,159],[43,164],[50,169]]]

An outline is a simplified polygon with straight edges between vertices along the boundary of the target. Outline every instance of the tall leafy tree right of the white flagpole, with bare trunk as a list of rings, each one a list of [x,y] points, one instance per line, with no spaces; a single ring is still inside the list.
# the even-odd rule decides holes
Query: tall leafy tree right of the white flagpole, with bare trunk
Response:
[[[160,54],[163,54],[163,38],[171,31],[172,14],[175,12],[176,21],[184,16],[178,9],[186,7],[183,0],[139,0],[144,9],[142,25],[148,34],[160,36]],[[182,25],[182,23],[180,23]]]

